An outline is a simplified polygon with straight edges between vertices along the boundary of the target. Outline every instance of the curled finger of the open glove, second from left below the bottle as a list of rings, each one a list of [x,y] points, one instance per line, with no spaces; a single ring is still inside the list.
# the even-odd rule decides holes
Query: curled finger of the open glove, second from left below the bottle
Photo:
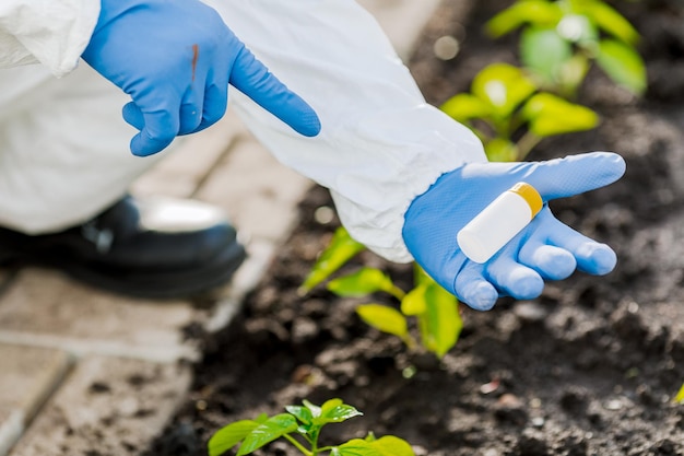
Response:
[[[544,289],[544,279],[539,272],[516,262],[510,255],[506,255],[506,250],[490,260],[485,274],[497,290],[517,300],[532,300]]]

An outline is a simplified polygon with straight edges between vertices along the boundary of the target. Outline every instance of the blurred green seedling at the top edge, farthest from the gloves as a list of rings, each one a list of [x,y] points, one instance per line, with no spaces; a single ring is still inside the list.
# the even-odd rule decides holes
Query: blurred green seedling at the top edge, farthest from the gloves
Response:
[[[518,0],[485,24],[492,37],[521,28],[523,66],[545,90],[574,98],[595,62],[635,95],[646,90],[638,32],[601,0]]]

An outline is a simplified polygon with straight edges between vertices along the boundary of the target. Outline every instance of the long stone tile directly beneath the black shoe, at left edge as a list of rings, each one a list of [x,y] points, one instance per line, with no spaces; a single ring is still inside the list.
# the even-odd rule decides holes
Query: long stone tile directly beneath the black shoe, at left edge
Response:
[[[0,301],[0,342],[170,361],[196,356],[181,329],[199,317],[184,301],[122,297],[28,268]]]

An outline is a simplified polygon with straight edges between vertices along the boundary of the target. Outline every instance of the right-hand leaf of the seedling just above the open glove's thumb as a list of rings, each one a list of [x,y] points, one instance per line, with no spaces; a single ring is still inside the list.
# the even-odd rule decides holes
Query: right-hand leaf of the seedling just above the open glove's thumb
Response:
[[[599,116],[588,107],[566,102],[550,93],[530,98],[522,108],[530,131],[539,137],[590,130],[599,124]]]

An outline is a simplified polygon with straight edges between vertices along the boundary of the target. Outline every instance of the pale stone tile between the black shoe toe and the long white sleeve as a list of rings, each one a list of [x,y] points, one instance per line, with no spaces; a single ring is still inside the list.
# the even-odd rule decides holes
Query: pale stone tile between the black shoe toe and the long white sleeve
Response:
[[[197,192],[222,207],[250,238],[281,242],[311,182],[278,162],[253,138],[236,142]]]

